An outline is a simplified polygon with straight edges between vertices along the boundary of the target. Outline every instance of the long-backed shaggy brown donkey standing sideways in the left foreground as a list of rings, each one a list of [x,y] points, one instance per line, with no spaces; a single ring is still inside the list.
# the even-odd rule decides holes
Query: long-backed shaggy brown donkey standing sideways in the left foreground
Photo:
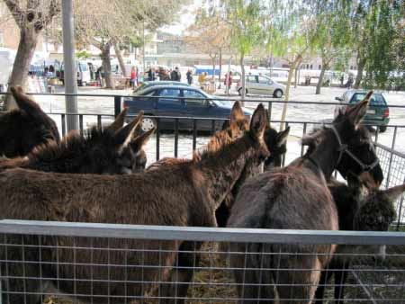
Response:
[[[193,161],[162,166],[142,174],[95,175],[95,174],[56,174],[11,169],[0,173],[2,195],[0,210],[3,219],[40,219],[59,221],[79,221],[117,224],[167,225],[167,226],[215,226],[215,210],[228,195],[238,180],[247,159],[257,159],[257,163],[269,155],[264,142],[266,114],[259,105],[252,116],[249,130],[240,138],[230,142],[215,152],[205,151]],[[7,237],[9,242],[21,242],[19,237]],[[38,245],[38,237],[23,236],[24,244]],[[76,252],[76,261],[84,264],[109,264],[109,267],[75,267],[69,264],[73,252],[61,246],[89,246],[89,239],[63,237],[40,238],[40,251],[21,250],[7,246],[0,248],[0,259],[21,261],[48,260],[52,264],[1,264],[1,271],[8,271],[7,281],[2,284],[4,303],[36,303],[39,300],[40,281],[23,281],[16,276],[49,278],[58,290],[70,294],[83,294],[79,300],[89,301],[90,294],[97,294],[94,302],[122,303],[125,296],[141,296],[151,291],[154,284],[166,280],[170,267],[175,262],[176,251],[182,242],[139,241],[130,239],[93,240],[93,247],[106,248],[145,248],[152,250],[148,255],[139,251],[90,251]],[[58,246],[58,264],[55,252],[48,246]],[[163,249],[159,252],[159,248]],[[62,263],[67,262],[67,263]],[[114,267],[124,265],[160,265],[145,267]],[[76,275],[74,283],[69,280]],[[161,275],[161,277],[160,277]],[[110,282],[105,282],[106,278]],[[62,280],[58,280],[62,279]],[[184,278],[183,278],[184,279]],[[185,278],[186,279],[186,278]],[[81,281],[82,280],[82,281]],[[126,281],[126,283],[122,283]],[[183,280],[182,280],[183,281]],[[189,280],[184,280],[190,282]],[[44,283],[44,282],[42,282]],[[4,289],[5,287],[5,289]],[[6,293],[20,291],[22,293]],[[23,294],[25,291],[25,294]],[[143,291],[143,292],[142,292]]]

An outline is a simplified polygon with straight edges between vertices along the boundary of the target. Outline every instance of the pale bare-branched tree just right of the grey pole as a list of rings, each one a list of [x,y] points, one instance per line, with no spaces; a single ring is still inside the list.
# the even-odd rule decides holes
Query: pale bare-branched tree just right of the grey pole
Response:
[[[186,0],[76,0],[77,39],[101,50],[105,84],[114,88],[111,68],[111,49],[132,37],[145,25],[149,31],[173,22],[176,12]],[[120,60],[120,49],[117,56]],[[121,62],[122,65],[122,62]]]

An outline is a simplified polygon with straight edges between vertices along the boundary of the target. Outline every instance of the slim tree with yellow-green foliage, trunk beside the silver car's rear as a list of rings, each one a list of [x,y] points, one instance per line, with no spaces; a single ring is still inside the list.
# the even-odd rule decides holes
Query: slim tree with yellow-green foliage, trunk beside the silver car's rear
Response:
[[[262,37],[261,4],[259,0],[224,0],[225,22],[230,27],[231,46],[238,51],[242,71],[242,99],[246,96],[245,57]]]

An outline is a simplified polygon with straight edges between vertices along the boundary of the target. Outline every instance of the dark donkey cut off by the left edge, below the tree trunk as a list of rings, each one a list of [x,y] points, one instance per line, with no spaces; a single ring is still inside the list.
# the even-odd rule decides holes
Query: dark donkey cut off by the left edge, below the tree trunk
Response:
[[[42,112],[33,99],[23,93],[21,86],[10,88],[19,110],[0,116],[0,156],[25,156],[32,148],[49,140],[58,142],[55,121]]]

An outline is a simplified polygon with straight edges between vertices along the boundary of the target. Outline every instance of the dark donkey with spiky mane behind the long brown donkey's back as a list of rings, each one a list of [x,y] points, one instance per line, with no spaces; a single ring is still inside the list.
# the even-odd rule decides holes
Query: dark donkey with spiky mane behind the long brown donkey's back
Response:
[[[154,130],[135,131],[142,113],[122,128],[126,110],[104,130],[96,127],[81,136],[73,131],[61,142],[49,141],[28,156],[0,161],[0,171],[14,167],[74,174],[132,174],[145,169],[143,146]]]

